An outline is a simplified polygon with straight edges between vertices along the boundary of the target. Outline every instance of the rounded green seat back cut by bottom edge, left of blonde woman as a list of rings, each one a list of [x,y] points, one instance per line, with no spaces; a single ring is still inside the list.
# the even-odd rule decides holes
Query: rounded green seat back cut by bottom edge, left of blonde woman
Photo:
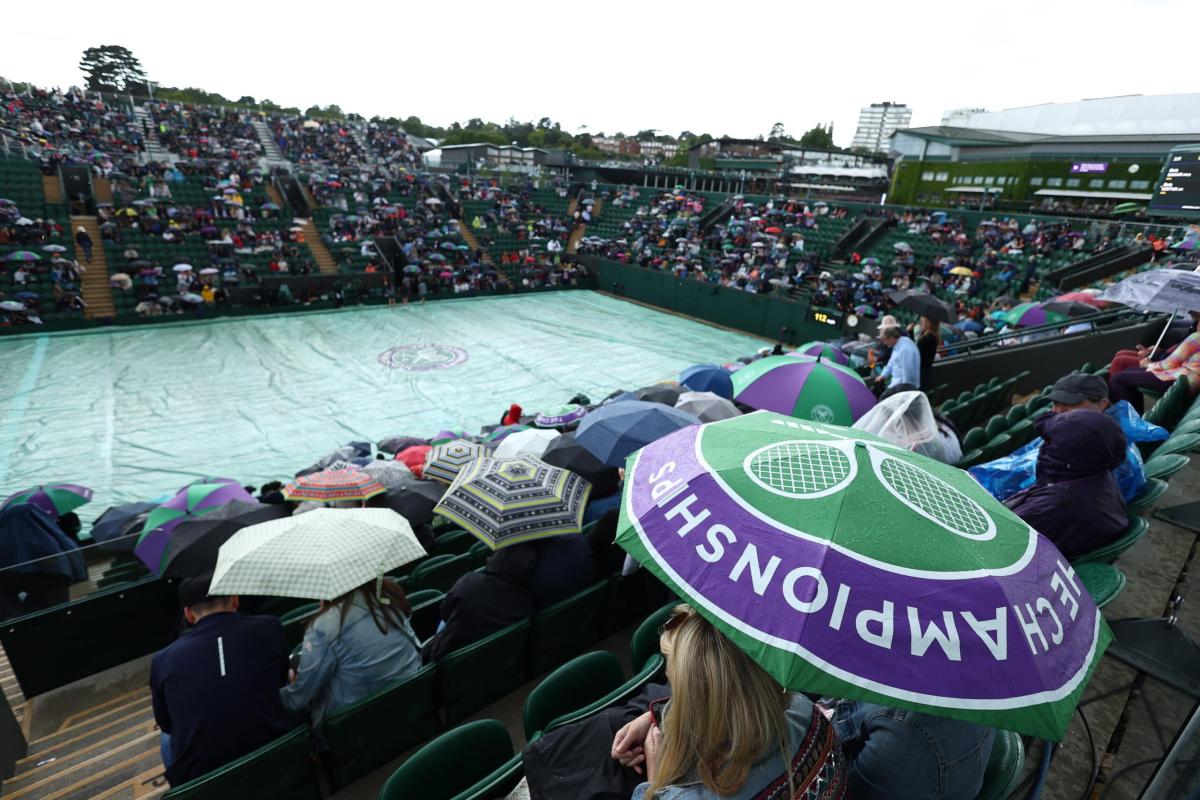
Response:
[[[468,800],[504,794],[516,783],[512,739],[496,720],[479,720],[448,730],[400,765],[379,792],[379,800]],[[511,787],[508,787],[511,788]]]

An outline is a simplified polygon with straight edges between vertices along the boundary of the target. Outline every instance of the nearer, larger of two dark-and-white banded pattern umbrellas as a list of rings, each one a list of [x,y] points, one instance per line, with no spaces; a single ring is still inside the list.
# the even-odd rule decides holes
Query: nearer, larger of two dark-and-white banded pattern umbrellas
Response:
[[[577,534],[592,485],[530,458],[480,458],[464,468],[436,509],[493,551]]]

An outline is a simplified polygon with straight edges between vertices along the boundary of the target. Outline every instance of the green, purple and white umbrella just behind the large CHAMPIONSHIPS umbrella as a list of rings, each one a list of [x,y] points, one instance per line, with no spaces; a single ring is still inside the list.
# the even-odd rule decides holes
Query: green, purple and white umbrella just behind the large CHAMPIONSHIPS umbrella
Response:
[[[768,356],[733,373],[733,399],[802,420],[851,425],[875,395],[848,367],[797,356]]]

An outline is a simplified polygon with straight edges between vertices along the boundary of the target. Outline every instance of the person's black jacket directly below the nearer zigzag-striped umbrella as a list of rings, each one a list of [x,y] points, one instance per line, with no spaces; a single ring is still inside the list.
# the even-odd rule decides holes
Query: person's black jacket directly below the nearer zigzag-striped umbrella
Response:
[[[530,584],[536,564],[532,545],[516,545],[492,554],[482,572],[458,578],[442,601],[445,627],[421,650],[426,663],[533,616]]]

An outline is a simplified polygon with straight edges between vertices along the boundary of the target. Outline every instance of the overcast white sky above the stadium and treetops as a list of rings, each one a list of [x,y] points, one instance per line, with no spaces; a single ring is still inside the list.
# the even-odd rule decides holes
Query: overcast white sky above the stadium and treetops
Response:
[[[798,137],[832,121],[848,145],[858,109],[886,100],[936,125],[964,106],[1195,91],[1182,32],[1194,12],[1188,0],[16,0],[0,76],[82,85],[82,52],[122,44],[152,80],[234,100],[606,133],[755,137],[781,121]]]

